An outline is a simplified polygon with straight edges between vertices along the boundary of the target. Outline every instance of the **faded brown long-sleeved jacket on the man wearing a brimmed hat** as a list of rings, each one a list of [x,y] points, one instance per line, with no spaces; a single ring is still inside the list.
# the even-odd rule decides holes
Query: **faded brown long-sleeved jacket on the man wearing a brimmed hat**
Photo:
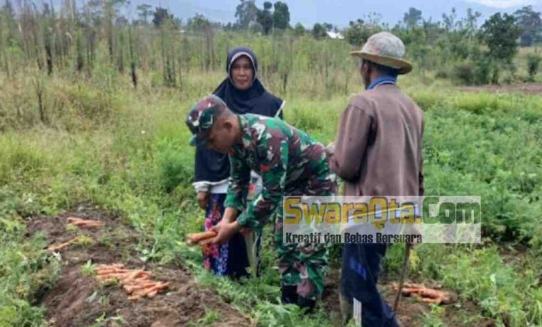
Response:
[[[343,195],[422,196],[422,135],[422,111],[397,86],[353,97],[329,159]]]

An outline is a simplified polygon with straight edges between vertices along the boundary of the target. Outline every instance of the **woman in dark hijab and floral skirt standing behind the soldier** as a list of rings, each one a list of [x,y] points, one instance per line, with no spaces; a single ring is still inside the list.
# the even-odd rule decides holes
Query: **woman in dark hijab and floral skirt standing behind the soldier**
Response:
[[[258,61],[251,49],[247,47],[232,49],[228,54],[226,71],[228,73],[226,79],[213,94],[223,99],[231,111],[282,118],[284,101],[265,90],[259,81]],[[205,230],[211,230],[224,214],[229,169],[227,155],[209,150],[205,146],[196,148],[194,186],[199,206],[206,210]],[[257,192],[255,190],[257,180],[257,176],[252,178],[250,186],[252,196]],[[256,247],[259,248],[259,237],[256,239]],[[252,243],[251,238],[247,238],[247,241]],[[242,234],[236,234],[227,244],[208,246],[204,253],[204,266],[216,275],[239,278],[248,275],[249,266],[256,269],[256,274],[258,273],[259,255],[256,257],[257,264],[254,263],[256,258],[253,256],[249,260],[245,238]]]

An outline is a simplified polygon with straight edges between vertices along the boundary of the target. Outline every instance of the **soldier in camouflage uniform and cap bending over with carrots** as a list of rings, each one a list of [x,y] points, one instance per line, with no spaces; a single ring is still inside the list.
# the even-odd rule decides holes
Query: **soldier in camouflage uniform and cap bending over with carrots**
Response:
[[[192,144],[206,143],[230,155],[227,209],[215,227],[218,234],[213,243],[227,241],[241,228],[261,229],[276,212],[282,301],[311,310],[324,289],[327,247],[283,243],[282,197],[335,193],[335,175],[327,165],[324,145],[278,118],[233,114],[215,96],[195,104],[186,125],[193,134]],[[263,177],[263,189],[246,209],[251,169]]]

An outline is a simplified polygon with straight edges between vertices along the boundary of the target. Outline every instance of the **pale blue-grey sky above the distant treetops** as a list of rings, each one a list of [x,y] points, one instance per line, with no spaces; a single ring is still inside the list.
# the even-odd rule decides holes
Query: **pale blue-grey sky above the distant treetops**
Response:
[[[60,3],[62,0],[54,0]],[[83,1],[83,0],[76,0]],[[256,0],[258,8],[263,7],[265,0]],[[350,20],[363,18],[369,13],[381,15],[381,21],[390,25],[402,20],[410,7],[422,10],[424,19],[432,17],[433,21],[441,20],[443,13],[457,9],[459,17],[463,17],[468,8],[482,13],[482,19],[499,11],[513,13],[522,6],[532,5],[542,12],[542,0],[282,0],[290,8],[290,24],[301,22],[305,27],[316,22],[329,22],[345,27]],[[0,0],[0,3],[3,2]],[[47,1],[49,2],[49,1]],[[271,2],[275,2],[272,0]],[[82,3],[82,2],[81,2]],[[176,17],[186,19],[197,13],[203,14],[215,22],[235,22],[236,6],[240,0],[131,0],[127,8],[128,15],[137,15],[136,6],[147,3],[151,6],[168,8]]]

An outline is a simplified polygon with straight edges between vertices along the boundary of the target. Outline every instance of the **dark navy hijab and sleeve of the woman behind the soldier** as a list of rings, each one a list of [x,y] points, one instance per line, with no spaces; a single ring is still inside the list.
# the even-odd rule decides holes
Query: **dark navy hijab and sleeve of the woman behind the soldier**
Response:
[[[247,90],[238,90],[231,81],[231,66],[238,58],[247,56],[252,63],[254,79]],[[265,90],[258,79],[258,60],[254,52],[247,47],[236,47],[229,51],[226,72],[228,76],[213,92],[226,102],[234,113],[256,113],[274,117],[281,108],[283,101]],[[279,113],[282,118],[282,112]],[[220,182],[229,177],[229,158],[209,150],[205,145],[196,148],[195,182]]]

